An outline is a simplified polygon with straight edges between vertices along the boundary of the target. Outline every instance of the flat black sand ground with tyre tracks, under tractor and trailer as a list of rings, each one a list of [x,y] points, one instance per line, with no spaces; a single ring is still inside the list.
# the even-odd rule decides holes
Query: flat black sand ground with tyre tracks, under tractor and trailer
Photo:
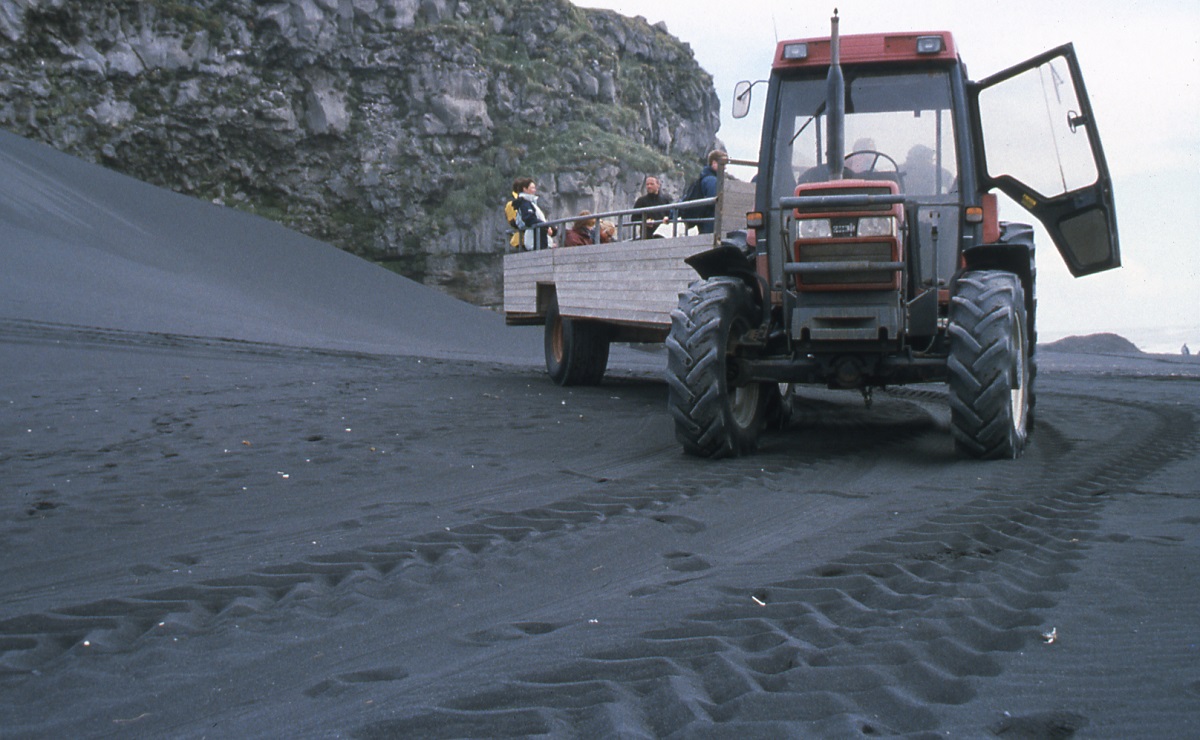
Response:
[[[5,736],[1200,721],[1194,365],[1048,355],[1015,462],[956,459],[929,386],[706,463],[637,367],[101,326],[0,321]]]

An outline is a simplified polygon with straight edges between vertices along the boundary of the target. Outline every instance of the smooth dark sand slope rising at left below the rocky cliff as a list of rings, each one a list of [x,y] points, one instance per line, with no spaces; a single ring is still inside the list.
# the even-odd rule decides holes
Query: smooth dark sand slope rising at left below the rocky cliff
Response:
[[[528,362],[536,332],[233,209],[0,132],[0,318]]]

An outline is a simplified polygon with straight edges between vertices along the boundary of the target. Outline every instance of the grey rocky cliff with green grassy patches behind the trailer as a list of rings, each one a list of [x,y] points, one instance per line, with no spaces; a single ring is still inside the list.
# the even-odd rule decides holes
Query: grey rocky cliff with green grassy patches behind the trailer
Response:
[[[0,0],[0,126],[478,303],[515,176],[678,194],[718,125],[686,44],[565,0]]]

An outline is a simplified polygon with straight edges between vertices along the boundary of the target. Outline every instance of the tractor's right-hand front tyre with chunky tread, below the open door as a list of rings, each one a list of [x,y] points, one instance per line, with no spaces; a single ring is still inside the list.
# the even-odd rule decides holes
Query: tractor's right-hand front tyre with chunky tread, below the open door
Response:
[[[1028,438],[1033,373],[1021,281],[980,270],[950,300],[950,429],[961,455],[1016,458]]]

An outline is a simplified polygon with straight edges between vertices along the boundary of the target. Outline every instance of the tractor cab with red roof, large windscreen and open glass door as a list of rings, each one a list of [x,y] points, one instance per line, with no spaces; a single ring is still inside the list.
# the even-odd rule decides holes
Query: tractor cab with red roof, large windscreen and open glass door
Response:
[[[739,84],[734,115],[746,112],[751,88]],[[1111,180],[1070,44],[973,83],[946,31],[781,42],[760,151],[767,187],[758,191],[757,236],[772,255],[774,290],[799,269],[787,255],[800,231],[824,233],[827,221],[781,198],[878,194],[892,189],[886,184],[904,204],[895,225],[908,243],[910,300],[947,288],[964,254],[997,242],[992,191],[1043,223],[1073,275],[1121,264]],[[796,223],[785,229],[790,216]],[[862,223],[847,215],[829,221],[828,231],[858,237]],[[784,248],[763,243],[776,240]]]

